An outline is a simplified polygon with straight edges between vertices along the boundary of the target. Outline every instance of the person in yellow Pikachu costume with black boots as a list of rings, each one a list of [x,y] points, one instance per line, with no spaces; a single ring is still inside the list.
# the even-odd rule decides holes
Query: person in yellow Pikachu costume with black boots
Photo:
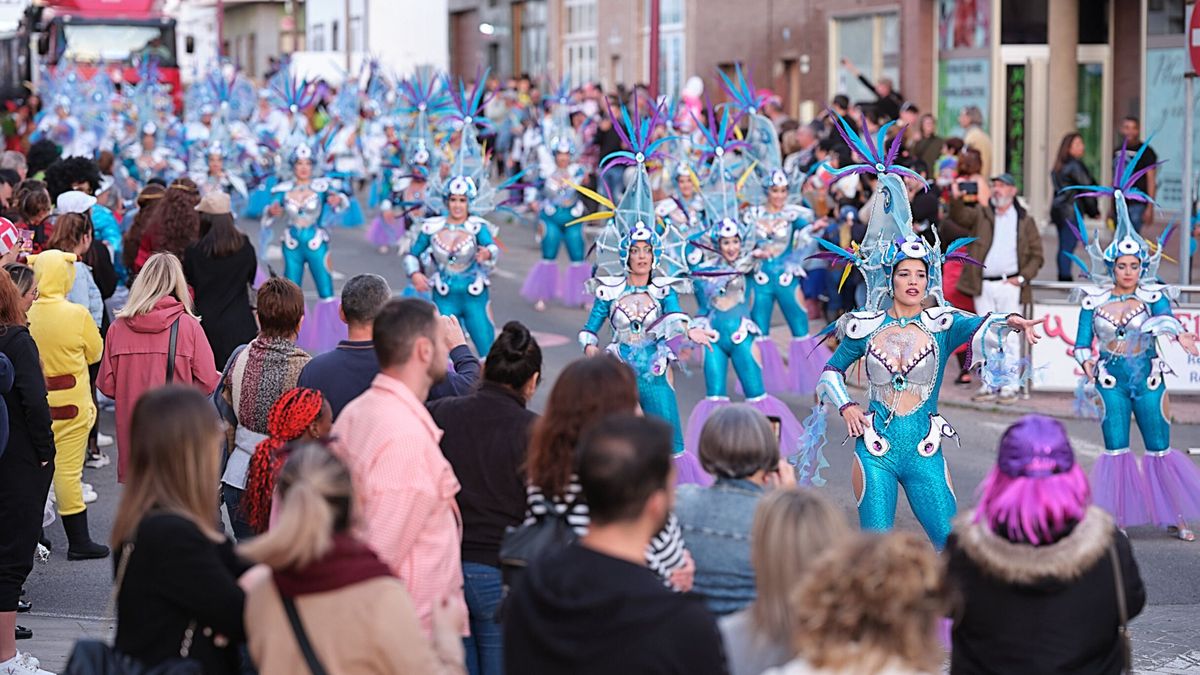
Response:
[[[29,331],[46,375],[54,430],[54,494],[67,533],[67,560],[106,557],[108,546],[91,540],[83,501],[83,462],[88,431],[96,419],[88,365],[100,360],[104,344],[88,307],[67,300],[74,283],[76,256],[48,250],[29,257],[37,299],[29,310]]]

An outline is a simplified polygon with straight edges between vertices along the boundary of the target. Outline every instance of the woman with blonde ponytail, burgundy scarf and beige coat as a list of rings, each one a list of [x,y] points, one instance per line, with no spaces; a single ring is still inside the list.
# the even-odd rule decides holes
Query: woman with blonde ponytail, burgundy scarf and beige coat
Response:
[[[241,546],[242,555],[271,572],[251,574],[247,584],[247,644],[258,671],[308,671],[288,602],[329,673],[464,673],[461,617],[452,605],[434,608],[431,644],[404,583],[352,533],[352,483],[349,470],[326,448],[300,444],[280,474],[278,520]]]

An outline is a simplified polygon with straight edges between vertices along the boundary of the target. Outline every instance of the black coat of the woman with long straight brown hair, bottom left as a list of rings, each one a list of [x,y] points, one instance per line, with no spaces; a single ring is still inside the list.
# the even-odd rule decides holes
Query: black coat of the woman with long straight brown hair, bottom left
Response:
[[[250,566],[234,555],[233,543],[214,542],[191,520],[156,512],[142,519],[133,545],[116,598],[116,649],[146,667],[157,665],[179,656],[194,621],[188,657],[210,675],[239,673],[246,596],[238,577]],[[115,554],[119,569],[124,550]],[[217,635],[228,644],[216,646]]]

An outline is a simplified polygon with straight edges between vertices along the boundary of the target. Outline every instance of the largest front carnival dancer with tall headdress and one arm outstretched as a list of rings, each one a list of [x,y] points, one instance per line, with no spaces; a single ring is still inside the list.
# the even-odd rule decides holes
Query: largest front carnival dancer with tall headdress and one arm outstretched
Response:
[[[942,454],[942,440],[956,441],[958,432],[937,411],[946,363],[954,350],[970,342],[973,364],[998,369],[997,362],[1003,366],[1014,357],[1003,351],[1007,331],[1024,331],[1032,345],[1040,321],[1016,315],[980,317],[948,305],[942,297],[942,264],[947,259],[979,264],[961,251],[970,240],[954,241],[943,255],[936,231],[932,246],[913,232],[904,177],[922,179],[894,163],[902,133],[884,149],[890,123],[876,138],[859,137],[840,117],[838,123],[842,138],[866,161],[839,174],[869,172],[878,181],[863,244],[851,252],[821,240],[826,252],[818,256],[851,262],[863,274],[866,303],[830,325],[836,327],[840,344],[821,374],[818,393],[838,407],[848,437],[857,438],[852,483],[860,526],[890,530],[898,486],[904,485],[913,514],[941,549],[958,508]],[[865,412],[845,382],[846,370],[863,357]]]

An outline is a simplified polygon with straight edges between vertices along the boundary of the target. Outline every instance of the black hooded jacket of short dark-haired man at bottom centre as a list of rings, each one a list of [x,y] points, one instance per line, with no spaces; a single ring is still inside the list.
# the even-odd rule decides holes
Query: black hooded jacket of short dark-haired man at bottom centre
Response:
[[[530,566],[508,603],[509,673],[726,673],[716,622],[698,597],[581,544]]]

